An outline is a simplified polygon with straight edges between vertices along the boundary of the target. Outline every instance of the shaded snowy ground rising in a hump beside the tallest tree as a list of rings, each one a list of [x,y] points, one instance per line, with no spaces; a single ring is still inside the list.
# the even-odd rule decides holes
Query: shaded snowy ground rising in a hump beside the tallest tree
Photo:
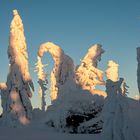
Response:
[[[34,114],[35,115],[35,114]],[[31,124],[24,128],[0,127],[0,140],[92,140],[101,139],[101,135],[66,134],[47,127],[44,122],[45,113],[36,114]]]

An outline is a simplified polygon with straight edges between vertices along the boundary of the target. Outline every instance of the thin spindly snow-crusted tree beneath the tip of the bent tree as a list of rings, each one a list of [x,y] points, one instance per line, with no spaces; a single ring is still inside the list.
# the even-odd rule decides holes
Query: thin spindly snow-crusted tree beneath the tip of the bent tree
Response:
[[[46,106],[46,101],[45,101],[45,91],[47,90],[47,74],[44,72],[44,67],[46,65],[42,64],[41,58],[38,56],[37,57],[37,63],[35,64],[36,70],[37,71],[37,76],[38,76],[38,83],[40,85],[39,88],[39,95],[41,97],[41,109],[45,111],[45,106]]]

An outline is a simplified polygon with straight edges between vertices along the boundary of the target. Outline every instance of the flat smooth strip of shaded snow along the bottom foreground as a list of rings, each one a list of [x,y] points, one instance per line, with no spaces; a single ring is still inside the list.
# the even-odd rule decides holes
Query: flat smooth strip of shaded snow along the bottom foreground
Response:
[[[49,129],[7,129],[0,128],[0,140],[100,140],[100,135],[83,134],[58,134],[52,133]]]

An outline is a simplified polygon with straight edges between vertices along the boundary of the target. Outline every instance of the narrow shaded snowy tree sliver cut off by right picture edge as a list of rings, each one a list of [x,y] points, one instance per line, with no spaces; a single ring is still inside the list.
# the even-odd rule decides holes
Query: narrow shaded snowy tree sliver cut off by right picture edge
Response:
[[[139,93],[140,93],[140,47],[137,48],[137,61],[138,61],[137,83],[138,83],[138,90],[139,90]]]

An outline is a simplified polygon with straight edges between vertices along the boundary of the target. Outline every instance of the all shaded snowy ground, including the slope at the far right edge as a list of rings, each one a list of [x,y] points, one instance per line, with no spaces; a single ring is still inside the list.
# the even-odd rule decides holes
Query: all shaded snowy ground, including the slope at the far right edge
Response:
[[[133,140],[140,140],[140,102],[127,98],[128,102],[128,126],[131,128]],[[33,112],[31,124],[24,128],[0,127],[0,140],[45,140],[45,139],[67,139],[67,140],[106,140],[102,133],[99,134],[68,134],[58,132],[55,128],[48,127],[45,123],[46,112],[38,109]]]

